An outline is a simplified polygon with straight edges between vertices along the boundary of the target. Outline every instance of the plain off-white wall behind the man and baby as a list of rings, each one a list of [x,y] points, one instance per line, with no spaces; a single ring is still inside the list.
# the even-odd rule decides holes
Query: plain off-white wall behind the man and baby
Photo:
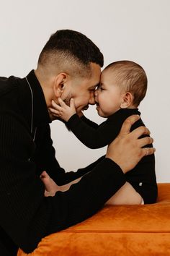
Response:
[[[148,74],[140,111],[155,139],[157,179],[170,182],[169,9],[169,0],[1,1],[0,75],[24,77],[36,67],[50,34],[63,28],[91,38],[104,54],[104,66],[120,59],[137,61]],[[86,115],[103,121],[92,107]],[[51,127],[57,158],[67,170],[86,166],[105,152],[85,148],[59,121]]]

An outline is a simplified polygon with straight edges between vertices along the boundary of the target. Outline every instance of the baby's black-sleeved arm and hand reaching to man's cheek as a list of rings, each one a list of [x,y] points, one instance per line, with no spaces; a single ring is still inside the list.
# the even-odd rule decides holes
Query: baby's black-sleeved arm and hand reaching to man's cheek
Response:
[[[67,106],[61,98],[58,98],[58,103],[60,106],[52,102],[51,113],[64,119],[68,129],[71,129],[71,132],[88,148],[102,148],[108,145],[120,130],[114,124],[107,125],[106,121],[98,125],[84,117],[79,118],[73,100],[71,100],[70,106]]]

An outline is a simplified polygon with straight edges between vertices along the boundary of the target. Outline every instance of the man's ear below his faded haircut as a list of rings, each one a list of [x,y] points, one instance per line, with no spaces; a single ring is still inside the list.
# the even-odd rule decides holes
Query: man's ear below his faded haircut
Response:
[[[56,98],[61,97],[61,94],[64,90],[64,84],[66,83],[66,79],[67,74],[65,73],[60,73],[55,77],[53,90]]]

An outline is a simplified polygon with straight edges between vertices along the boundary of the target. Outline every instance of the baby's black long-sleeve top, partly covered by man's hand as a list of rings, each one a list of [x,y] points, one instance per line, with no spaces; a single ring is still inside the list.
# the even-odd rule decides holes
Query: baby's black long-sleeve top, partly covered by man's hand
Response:
[[[96,124],[93,121],[86,119],[85,116],[79,118],[76,114],[71,116],[66,125],[68,129],[78,137],[78,139],[89,148],[102,148],[108,145],[120,132],[122,123],[128,116],[133,114],[140,115],[138,108],[130,109],[123,108],[117,111],[112,116],[109,116],[102,124]],[[130,131],[133,129],[145,126],[142,119],[133,124]],[[142,136],[145,137],[145,136]],[[153,147],[146,145],[145,147]],[[143,197],[145,203],[156,202],[157,184],[155,172],[155,156],[147,155],[141,159],[133,170],[125,174],[126,181],[129,182],[134,189]]]

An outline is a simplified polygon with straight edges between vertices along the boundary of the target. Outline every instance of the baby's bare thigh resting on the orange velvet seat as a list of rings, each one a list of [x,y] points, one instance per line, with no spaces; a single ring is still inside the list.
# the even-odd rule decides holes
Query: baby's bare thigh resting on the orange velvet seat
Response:
[[[133,186],[126,182],[107,202],[106,205],[141,205],[143,198]]]

